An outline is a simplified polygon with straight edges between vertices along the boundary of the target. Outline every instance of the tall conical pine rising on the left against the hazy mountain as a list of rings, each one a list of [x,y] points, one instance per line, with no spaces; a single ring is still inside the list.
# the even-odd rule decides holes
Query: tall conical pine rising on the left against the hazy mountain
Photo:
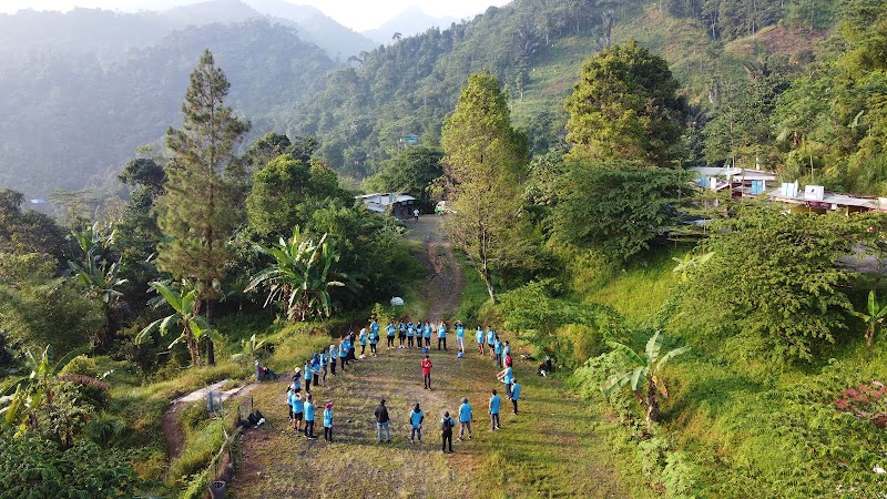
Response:
[[[202,312],[207,320],[231,259],[227,242],[244,220],[244,172],[234,147],[249,123],[223,104],[230,86],[213,54],[204,51],[191,73],[182,129],[166,131],[173,156],[166,165],[159,222],[167,241],[159,246],[157,263],[162,271],[193,283],[198,293],[195,313]],[[198,359],[196,352],[191,355]],[[214,364],[212,340],[207,357]]]

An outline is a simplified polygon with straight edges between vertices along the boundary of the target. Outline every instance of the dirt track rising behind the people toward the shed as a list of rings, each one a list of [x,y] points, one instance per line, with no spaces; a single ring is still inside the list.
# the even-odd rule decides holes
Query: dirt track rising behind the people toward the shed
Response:
[[[428,277],[419,296],[428,304],[428,319],[455,318],[465,289],[465,276],[443,234],[441,217],[420,216],[418,222],[407,222],[407,238],[421,243],[424,248],[424,252],[414,256],[428,267]]]

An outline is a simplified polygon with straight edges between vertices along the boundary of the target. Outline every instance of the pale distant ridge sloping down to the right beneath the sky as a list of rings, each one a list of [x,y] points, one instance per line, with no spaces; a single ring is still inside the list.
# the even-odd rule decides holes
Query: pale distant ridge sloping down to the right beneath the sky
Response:
[[[335,61],[376,47],[369,38],[350,30],[310,6],[297,6],[285,0],[244,0],[249,7],[274,21],[292,23],[299,35],[326,50]]]

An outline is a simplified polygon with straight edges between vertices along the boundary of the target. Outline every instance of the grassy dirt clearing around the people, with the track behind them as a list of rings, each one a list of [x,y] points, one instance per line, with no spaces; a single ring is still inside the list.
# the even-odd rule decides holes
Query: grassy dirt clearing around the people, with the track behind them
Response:
[[[428,265],[422,298],[430,317],[452,318],[463,276],[439,220],[410,222],[410,237],[424,243],[417,255]],[[469,327],[469,330],[471,328]],[[593,431],[600,420],[585,403],[555,379],[534,375],[536,366],[514,356],[514,374],[523,385],[521,411],[512,415],[502,399],[502,429],[490,432],[487,401],[501,384],[489,357],[467,335],[467,356],[432,349],[432,390],[422,389],[418,349],[380,349],[378,357],[328,376],[313,390],[322,408],[333,401],[334,439],[323,440],[323,409],[317,411],[317,440],[306,439],[287,421],[286,374],[254,391],[254,405],[267,424],[246,434],[238,467],[228,483],[231,497],[259,498],[624,498],[611,466],[612,442]],[[513,338],[511,338],[513,342]],[[455,342],[453,342],[455,343]],[[520,352],[517,350],[516,354]],[[455,454],[440,451],[438,421],[445,410],[456,416],[460,399],[473,406],[473,438],[453,441]],[[391,444],[376,441],[374,409],[387,400]],[[421,442],[409,442],[408,414],[419,403],[425,411]]]

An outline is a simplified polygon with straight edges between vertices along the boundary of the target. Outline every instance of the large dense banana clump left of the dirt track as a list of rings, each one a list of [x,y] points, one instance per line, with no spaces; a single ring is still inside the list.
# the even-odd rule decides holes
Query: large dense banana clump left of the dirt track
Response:
[[[335,243],[327,241],[325,233],[318,241],[303,234],[298,225],[289,240],[281,240],[275,246],[255,245],[259,253],[274,258],[274,263],[255,274],[244,289],[248,293],[257,287],[266,287],[269,303],[284,302],[289,320],[305,320],[306,317],[329,317],[332,312],[330,287],[344,287],[344,274],[337,274],[334,266],[339,261]]]

